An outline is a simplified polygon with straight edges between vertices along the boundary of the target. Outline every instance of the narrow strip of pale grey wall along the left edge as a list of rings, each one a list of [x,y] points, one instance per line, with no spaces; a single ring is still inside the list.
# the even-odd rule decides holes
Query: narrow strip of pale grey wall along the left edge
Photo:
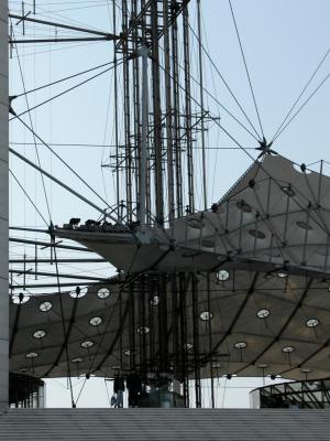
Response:
[[[0,0],[0,407],[8,406],[8,1]]]

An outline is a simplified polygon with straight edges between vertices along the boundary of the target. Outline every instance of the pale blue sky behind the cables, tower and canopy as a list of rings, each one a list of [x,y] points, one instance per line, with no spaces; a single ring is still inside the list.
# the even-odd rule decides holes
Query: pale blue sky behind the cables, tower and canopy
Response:
[[[111,1],[59,1],[36,0],[36,10],[42,19],[75,21],[87,28],[105,31],[111,29]],[[21,1],[10,1],[12,10],[20,12]],[[244,149],[257,147],[256,140],[243,130],[221,109],[212,97],[216,97],[244,126],[249,122],[242,115],[237,103],[226,88],[219,72],[237,99],[244,108],[256,131],[261,132],[256,111],[249,87],[240,45],[233,24],[230,4],[227,0],[201,0],[204,45],[212,60],[211,65],[207,54],[204,55],[206,88],[206,107]],[[25,8],[32,8],[29,1]],[[329,152],[329,95],[330,68],[329,51],[329,17],[328,0],[232,0],[232,8],[241,36],[246,65],[255,100],[257,104],[262,129],[267,141],[271,141],[284,120],[287,111],[298,98],[301,90],[320,65],[315,77],[305,90],[296,110],[320,86],[315,96],[304,106],[301,111],[275,140],[273,149],[296,163],[314,164],[319,160],[328,160]],[[195,0],[191,0],[191,25],[196,29]],[[13,35],[22,33],[22,26],[12,22]],[[54,29],[30,26],[32,36],[54,36]],[[191,39],[191,52],[196,55],[197,45]],[[18,57],[19,53],[19,57]],[[107,63],[112,60],[111,43],[79,44],[38,44],[20,45],[12,49],[10,61],[10,94],[21,94],[40,85],[54,82],[79,71]],[[193,75],[197,67],[191,67]],[[23,73],[24,84],[20,72]],[[86,76],[85,76],[86,77]],[[82,78],[85,78],[82,77]],[[324,82],[322,84],[322,82]],[[74,85],[72,80],[61,85],[35,92],[29,95],[30,107],[53,97],[64,88]],[[109,204],[114,203],[113,174],[110,169],[101,168],[109,162],[111,150],[106,147],[113,143],[113,73],[110,72],[96,78],[78,89],[66,94],[46,106],[32,112],[32,122],[37,135],[50,143],[74,143],[76,147],[56,147],[56,152],[84,178],[98,194]],[[13,101],[16,111],[24,111],[26,101],[23,97]],[[292,114],[294,115],[295,111]],[[22,117],[26,123],[30,119]],[[34,162],[37,160],[33,138],[18,120],[11,121],[11,142],[19,152]],[[250,128],[251,129],[251,128]],[[233,149],[237,144],[219,130],[217,125],[208,127],[208,197],[210,203],[219,201],[221,195],[251,164],[256,152]],[[84,147],[82,144],[101,147]],[[103,147],[102,147],[103,146]],[[218,150],[216,150],[216,148]],[[219,148],[224,148],[219,149]],[[197,159],[196,187],[200,187],[200,158]],[[88,194],[91,201],[100,204],[91,192],[74,178],[57,159],[45,149],[40,150],[42,166],[75,189],[78,193]],[[310,165],[318,168],[319,164]],[[11,158],[10,168],[22,186],[31,195],[43,216],[48,220],[47,204],[38,173],[31,170],[15,158]],[[323,172],[330,170],[324,163]],[[70,217],[90,218],[96,213],[81,201],[73,197],[55,184],[46,182],[46,193],[50,202],[50,213],[54,224],[63,224]],[[201,192],[197,190],[198,203],[201,206]],[[44,222],[31,207],[25,195],[14,180],[10,183],[11,225],[45,226]],[[25,234],[23,237],[28,237]],[[22,247],[11,249],[12,255],[32,252]],[[46,252],[46,251],[45,251]],[[81,271],[81,268],[76,268]],[[109,265],[90,268],[94,273],[111,275]],[[220,380],[219,404],[227,407],[249,407],[248,389],[261,386],[263,379],[233,379],[226,385]],[[75,392],[78,394],[81,378],[75,379]],[[80,406],[107,406],[108,396],[103,380],[90,379],[79,399]],[[47,381],[47,406],[69,406],[69,392],[66,380],[52,379]],[[111,394],[111,391],[110,391]]]

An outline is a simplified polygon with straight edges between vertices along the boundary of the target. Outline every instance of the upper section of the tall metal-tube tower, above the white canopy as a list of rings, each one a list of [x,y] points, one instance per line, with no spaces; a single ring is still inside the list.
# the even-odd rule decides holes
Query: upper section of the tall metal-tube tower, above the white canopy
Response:
[[[114,103],[116,112],[123,117],[123,127],[116,136],[114,166],[125,182],[123,217],[128,222],[141,220],[142,198],[145,198],[145,222],[151,225],[172,225],[175,217],[184,214],[185,205],[189,211],[195,208],[188,3],[188,0],[122,0],[118,7],[121,23],[116,29],[120,39],[114,60],[122,58],[122,66],[116,72],[122,69],[123,85],[122,92],[114,87]],[[180,39],[185,43],[183,49]],[[141,47],[148,51],[151,69],[146,121]],[[183,85],[180,56],[186,69]],[[147,128],[146,135],[142,133],[143,126]],[[118,130],[118,125],[114,129]],[[144,164],[145,187],[141,185]],[[142,190],[145,195],[140,194]]]

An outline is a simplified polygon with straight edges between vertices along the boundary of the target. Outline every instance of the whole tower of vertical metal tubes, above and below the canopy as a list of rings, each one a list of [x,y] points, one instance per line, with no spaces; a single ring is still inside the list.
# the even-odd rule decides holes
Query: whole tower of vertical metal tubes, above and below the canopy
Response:
[[[205,109],[201,46],[199,46],[198,112],[193,114],[191,51],[188,0],[122,0],[121,26],[116,33],[116,60],[122,60],[122,90],[114,87],[116,171],[125,192],[123,218],[170,227],[175,218],[196,209],[194,142],[201,131],[202,171],[206,173]],[[198,2],[199,39],[201,34]],[[150,72],[150,75],[148,75]],[[206,176],[204,208],[207,208]],[[146,240],[147,240],[147,236]],[[170,286],[170,288],[169,288]],[[157,381],[174,378],[183,386],[185,406],[201,407],[198,280],[194,272],[141,275],[130,288],[130,368]],[[193,319],[187,313],[193,311]],[[168,314],[173,319],[168,323]],[[148,319],[147,319],[148,318]],[[147,326],[146,326],[147,324]],[[187,342],[188,327],[194,342]],[[136,331],[138,330],[138,331]],[[136,351],[136,342],[140,351]],[[145,377],[146,379],[146,377]],[[213,398],[212,398],[213,402]]]

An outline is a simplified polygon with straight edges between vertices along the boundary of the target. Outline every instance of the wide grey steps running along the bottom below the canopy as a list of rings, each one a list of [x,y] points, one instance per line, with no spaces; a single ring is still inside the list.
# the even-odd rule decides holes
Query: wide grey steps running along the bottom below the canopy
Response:
[[[330,410],[10,409],[0,441],[315,441],[330,439]]]

